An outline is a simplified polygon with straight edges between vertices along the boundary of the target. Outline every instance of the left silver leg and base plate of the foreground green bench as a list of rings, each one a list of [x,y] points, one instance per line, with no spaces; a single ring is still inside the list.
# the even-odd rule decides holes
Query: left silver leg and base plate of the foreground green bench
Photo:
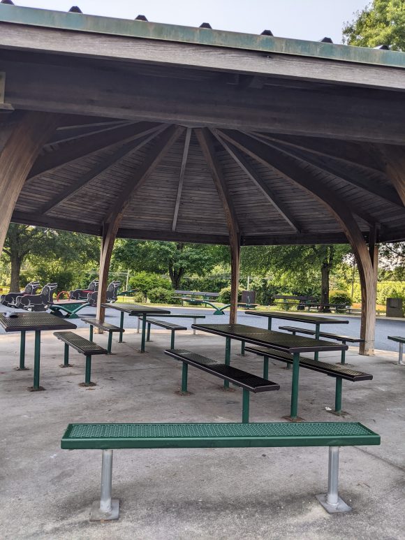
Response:
[[[119,500],[111,499],[112,450],[103,450],[101,463],[101,497],[91,506],[90,521],[115,520],[119,518]]]

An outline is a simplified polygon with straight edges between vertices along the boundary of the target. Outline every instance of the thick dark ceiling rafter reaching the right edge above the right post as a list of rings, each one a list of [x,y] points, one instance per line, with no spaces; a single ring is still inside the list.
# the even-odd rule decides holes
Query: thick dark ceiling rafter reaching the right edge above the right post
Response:
[[[348,184],[355,187],[360,187],[360,189],[364,189],[364,191],[368,191],[369,193],[382,198],[388,203],[401,207],[403,206],[401,199],[394,189],[390,189],[390,187],[378,184],[377,182],[374,182],[374,180],[370,180],[369,178],[362,176],[362,173],[359,170],[348,170],[348,168],[342,170],[339,167],[339,164],[330,160],[325,161],[325,158],[322,159],[322,156],[320,159],[320,157],[311,155],[309,152],[302,152],[300,149],[293,149],[290,147],[290,145],[284,145],[283,143],[276,142],[276,140],[270,141],[267,137],[262,137],[260,135],[255,136],[255,138],[258,138],[258,140],[263,140],[263,143],[271,145],[274,148],[279,148],[281,151],[286,152],[291,156],[298,157],[302,161],[315,166],[319,170],[330,173],[331,175],[344,180],[344,182],[347,182]]]

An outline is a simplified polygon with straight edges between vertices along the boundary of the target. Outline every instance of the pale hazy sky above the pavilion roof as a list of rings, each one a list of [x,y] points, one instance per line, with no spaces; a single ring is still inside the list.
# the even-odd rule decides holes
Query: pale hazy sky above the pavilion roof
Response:
[[[213,29],[318,41],[324,37],[341,43],[344,22],[369,0],[13,0],[16,6],[68,11],[79,6],[87,15],[104,15]]]

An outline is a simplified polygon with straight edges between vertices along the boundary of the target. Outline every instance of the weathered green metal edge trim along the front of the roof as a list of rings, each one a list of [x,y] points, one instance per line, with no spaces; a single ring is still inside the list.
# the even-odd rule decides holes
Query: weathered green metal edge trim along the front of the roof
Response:
[[[405,68],[405,52],[0,4],[0,22]]]

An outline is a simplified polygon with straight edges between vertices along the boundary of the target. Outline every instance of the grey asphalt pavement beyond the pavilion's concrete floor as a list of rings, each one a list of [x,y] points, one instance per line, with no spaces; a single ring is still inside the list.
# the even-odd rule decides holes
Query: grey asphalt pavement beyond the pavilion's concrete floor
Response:
[[[0,305],[0,311],[13,311],[6,306]],[[22,311],[21,309],[15,309],[14,311]],[[205,315],[205,319],[198,319],[200,323],[214,324],[214,323],[226,323],[229,318],[229,310],[226,311],[224,315],[213,315],[213,310],[201,309],[201,308],[192,308],[192,307],[170,307],[172,313],[178,313],[179,319],[170,317],[168,321],[172,321],[183,326],[191,327],[193,324],[193,319],[182,319],[182,314],[202,314]],[[82,311],[79,312],[81,317],[91,317],[96,313],[94,307],[84,307]],[[119,326],[119,312],[116,309],[107,309],[106,320],[112,324]],[[155,317],[155,316],[154,316]],[[332,315],[332,317],[335,317]],[[164,319],[164,316],[159,317]],[[348,316],[348,315],[338,315],[339,319],[348,320],[348,324],[330,324],[322,325],[322,329],[326,332],[332,333],[343,333],[345,335],[359,336],[360,335],[360,317],[358,316]],[[256,317],[252,315],[246,315],[244,312],[240,311],[237,315],[237,321],[242,324],[247,324],[249,326],[257,326],[258,328],[267,328],[267,319],[265,317]],[[78,327],[87,326],[86,323],[80,321],[80,319],[72,320]],[[293,323],[289,321],[277,320],[274,319],[272,323],[272,329],[277,330],[279,326],[302,326],[303,328],[314,328],[314,325],[307,326],[304,323]],[[136,318],[126,316],[124,319],[125,328],[136,328]],[[153,327],[152,327],[153,328]],[[0,328],[0,333],[4,333],[4,330]],[[401,320],[391,320],[391,319],[377,319],[376,321],[376,349],[383,351],[397,351],[398,344],[387,339],[388,335],[400,335],[405,336],[405,319]]]

